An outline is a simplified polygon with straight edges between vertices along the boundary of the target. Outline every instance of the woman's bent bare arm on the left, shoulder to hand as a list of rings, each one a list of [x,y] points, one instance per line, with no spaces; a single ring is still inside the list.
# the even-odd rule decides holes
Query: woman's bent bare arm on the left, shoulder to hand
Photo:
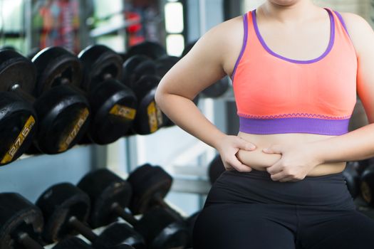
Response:
[[[240,33],[241,38],[238,37]],[[212,28],[162,78],[155,100],[162,112],[175,124],[216,148],[223,156],[224,164],[230,164],[241,171],[250,171],[234,155],[239,148],[249,150],[254,146],[244,139],[221,132],[192,102],[204,88],[232,73],[243,36],[242,18],[234,18]]]

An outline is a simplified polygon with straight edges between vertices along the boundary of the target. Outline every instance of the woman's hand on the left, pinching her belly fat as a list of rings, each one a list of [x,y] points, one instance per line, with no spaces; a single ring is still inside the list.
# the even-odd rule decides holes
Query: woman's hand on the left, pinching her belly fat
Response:
[[[239,159],[237,159],[237,152],[239,149],[244,149],[246,151],[253,151],[256,149],[254,144],[247,142],[241,137],[225,135],[215,146],[221,155],[222,162],[224,163],[224,168],[226,170],[237,170],[241,172],[251,171],[251,167],[242,164]]]

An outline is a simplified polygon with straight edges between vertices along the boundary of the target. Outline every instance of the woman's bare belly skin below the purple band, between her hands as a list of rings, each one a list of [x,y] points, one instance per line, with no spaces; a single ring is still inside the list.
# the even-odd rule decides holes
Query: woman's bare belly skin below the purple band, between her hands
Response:
[[[316,142],[323,139],[328,139],[334,136],[326,136],[320,134],[301,134],[301,133],[286,133],[286,134],[248,134],[239,132],[239,137],[256,145],[254,151],[239,150],[237,158],[245,165],[251,166],[252,169],[259,171],[266,171],[266,168],[273,165],[281,159],[281,154],[266,154],[262,152],[263,149],[274,144],[301,144],[306,142]],[[307,176],[323,176],[328,174],[336,174],[344,170],[346,162],[319,164],[314,167]]]

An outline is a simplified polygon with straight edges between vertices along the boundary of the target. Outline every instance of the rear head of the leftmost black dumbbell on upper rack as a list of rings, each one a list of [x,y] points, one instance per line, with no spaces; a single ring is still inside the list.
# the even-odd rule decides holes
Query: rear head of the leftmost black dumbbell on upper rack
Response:
[[[0,51],[0,91],[19,85],[32,93],[36,83],[36,68],[31,60],[13,50]]]

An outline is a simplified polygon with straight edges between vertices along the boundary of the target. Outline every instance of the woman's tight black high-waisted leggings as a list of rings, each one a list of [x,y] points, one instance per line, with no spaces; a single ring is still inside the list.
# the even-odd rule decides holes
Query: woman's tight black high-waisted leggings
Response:
[[[374,248],[374,221],[355,210],[343,174],[272,181],[225,171],[194,226],[194,249]]]

